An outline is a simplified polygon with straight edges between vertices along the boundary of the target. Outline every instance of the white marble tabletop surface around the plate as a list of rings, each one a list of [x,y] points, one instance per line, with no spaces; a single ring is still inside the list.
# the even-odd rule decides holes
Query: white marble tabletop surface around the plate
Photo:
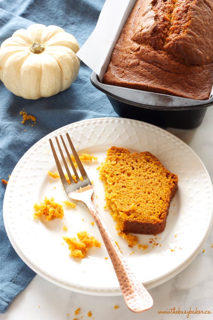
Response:
[[[207,110],[199,128],[168,131],[185,141],[200,157],[213,181],[213,108]],[[8,310],[0,315],[2,320],[136,320],[136,319],[213,319],[213,232],[203,245],[201,252],[191,264],[171,280],[149,290],[153,307],[134,314],[125,305],[122,296],[98,297],[75,293],[58,287],[40,276],[35,276],[27,288],[11,303]],[[115,309],[114,306],[119,308]],[[80,308],[80,314],[74,311]],[[206,310],[210,314],[193,314]],[[87,313],[91,311],[92,317]],[[170,313],[160,314],[160,311]],[[176,311],[186,312],[175,314]],[[189,313],[191,311],[191,313]],[[187,312],[189,314],[187,314]]]

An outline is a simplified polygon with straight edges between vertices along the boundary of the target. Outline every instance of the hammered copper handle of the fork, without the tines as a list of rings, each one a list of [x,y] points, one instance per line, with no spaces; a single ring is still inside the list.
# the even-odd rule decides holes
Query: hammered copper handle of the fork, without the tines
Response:
[[[101,233],[103,242],[109,253],[110,259],[114,266],[120,288],[127,307],[133,312],[140,313],[150,309],[153,305],[153,299],[145,287],[135,278],[132,271],[128,268],[118,246],[105,227],[103,220],[97,212],[91,198],[88,197],[84,203],[93,215],[96,225]]]

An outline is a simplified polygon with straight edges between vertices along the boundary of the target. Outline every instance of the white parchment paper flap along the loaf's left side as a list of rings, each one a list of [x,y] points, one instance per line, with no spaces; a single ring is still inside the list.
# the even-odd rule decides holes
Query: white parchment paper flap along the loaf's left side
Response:
[[[102,81],[112,50],[136,0],[106,0],[96,27],[77,56]]]

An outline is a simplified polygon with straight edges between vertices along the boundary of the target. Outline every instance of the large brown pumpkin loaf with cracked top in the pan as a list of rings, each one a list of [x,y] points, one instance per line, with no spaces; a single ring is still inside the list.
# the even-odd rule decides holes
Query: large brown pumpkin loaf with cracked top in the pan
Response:
[[[213,85],[212,12],[212,0],[137,0],[103,83],[209,99]]]

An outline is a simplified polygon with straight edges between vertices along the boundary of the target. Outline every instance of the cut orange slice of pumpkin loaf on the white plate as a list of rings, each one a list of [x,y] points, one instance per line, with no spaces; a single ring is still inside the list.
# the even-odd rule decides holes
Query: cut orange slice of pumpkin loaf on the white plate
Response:
[[[100,167],[100,179],[117,230],[154,235],[164,231],[178,177],[156,156],[113,146]]]

